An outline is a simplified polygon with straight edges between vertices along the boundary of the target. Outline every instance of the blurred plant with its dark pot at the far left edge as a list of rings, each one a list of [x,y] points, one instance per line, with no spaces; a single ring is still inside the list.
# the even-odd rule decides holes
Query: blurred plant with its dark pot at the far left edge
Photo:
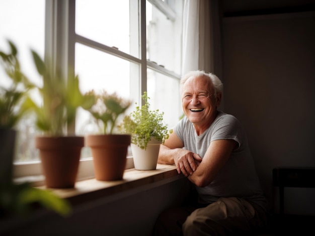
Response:
[[[61,215],[67,215],[70,205],[66,200],[49,190],[34,188],[30,183],[17,184],[13,181],[15,127],[26,113],[23,101],[27,91],[34,85],[21,71],[16,46],[8,42],[11,52],[7,54],[0,51],[0,61],[9,79],[7,87],[0,86],[0,218],[25,215],[36,202]]]

